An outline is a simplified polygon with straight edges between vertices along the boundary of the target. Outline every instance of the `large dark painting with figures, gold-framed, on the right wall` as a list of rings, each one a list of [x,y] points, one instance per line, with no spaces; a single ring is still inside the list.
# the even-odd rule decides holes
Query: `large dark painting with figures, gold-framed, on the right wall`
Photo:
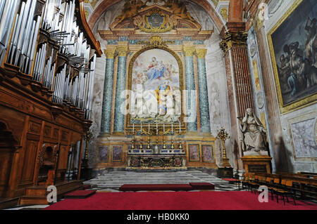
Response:
[[[316,0],[302,1],[285,17],[268,36],[282,107],[317,92]]]

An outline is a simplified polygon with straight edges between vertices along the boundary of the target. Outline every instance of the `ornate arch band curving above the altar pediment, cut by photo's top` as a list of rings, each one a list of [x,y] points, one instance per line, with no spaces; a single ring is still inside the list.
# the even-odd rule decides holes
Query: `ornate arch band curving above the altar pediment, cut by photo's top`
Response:
[[[94,12],[89,18],[88,24],[91,27],[91,29],[94,28],[97,21],[101,17],[101,15],[104,14],[104,12],[106,12],[109,7],[115,4],[118,4],[120,1],[122,0],[102,1],[101,4],[99,4],[97,8],[95,8]],[[220,18],[220,15],[217,13],[216,9],[213,8],[213,6],[211,6],[211,4],[209,3],[209,0],[191,0],[191,1],[201,6],[204,9],[204,11],[206,11],[206,13],[210,16],[211,20],[213,20],[213,22],[215,23],[218,29],[218,32],[220,32],[221,29],[223,29],[225,24],[223,23],[223,20]]]

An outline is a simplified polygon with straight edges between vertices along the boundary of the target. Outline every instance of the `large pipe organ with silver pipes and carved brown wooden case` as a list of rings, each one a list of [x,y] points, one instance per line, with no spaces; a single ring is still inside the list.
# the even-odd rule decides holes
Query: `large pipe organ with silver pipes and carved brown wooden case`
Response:
[[[51,184],[55,171],[55,181],[65,180],[68,152],[92,124],[94,70],[102,53],[83,4],[0,1],[0,134],[12,137],[0,138],[0,164],[5,164],[0,198],[27,197],[27,187]],[[48,147],[51,173],[39,183]]]

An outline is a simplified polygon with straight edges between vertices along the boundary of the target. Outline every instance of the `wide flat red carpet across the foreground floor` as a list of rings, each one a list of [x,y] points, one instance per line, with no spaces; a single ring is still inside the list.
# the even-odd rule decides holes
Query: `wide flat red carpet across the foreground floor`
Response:
[[[296,203],[260,203],[251,192],[116,192],[65,199],[45,210],[317,210],[317,204]]]

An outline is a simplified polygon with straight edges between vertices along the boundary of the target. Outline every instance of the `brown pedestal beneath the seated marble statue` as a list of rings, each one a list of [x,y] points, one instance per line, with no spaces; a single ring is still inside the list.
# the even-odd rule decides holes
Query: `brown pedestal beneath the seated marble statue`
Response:
[[[271,173],[272,157],[268,155],[247,155],[242,157],[247,173]]]

